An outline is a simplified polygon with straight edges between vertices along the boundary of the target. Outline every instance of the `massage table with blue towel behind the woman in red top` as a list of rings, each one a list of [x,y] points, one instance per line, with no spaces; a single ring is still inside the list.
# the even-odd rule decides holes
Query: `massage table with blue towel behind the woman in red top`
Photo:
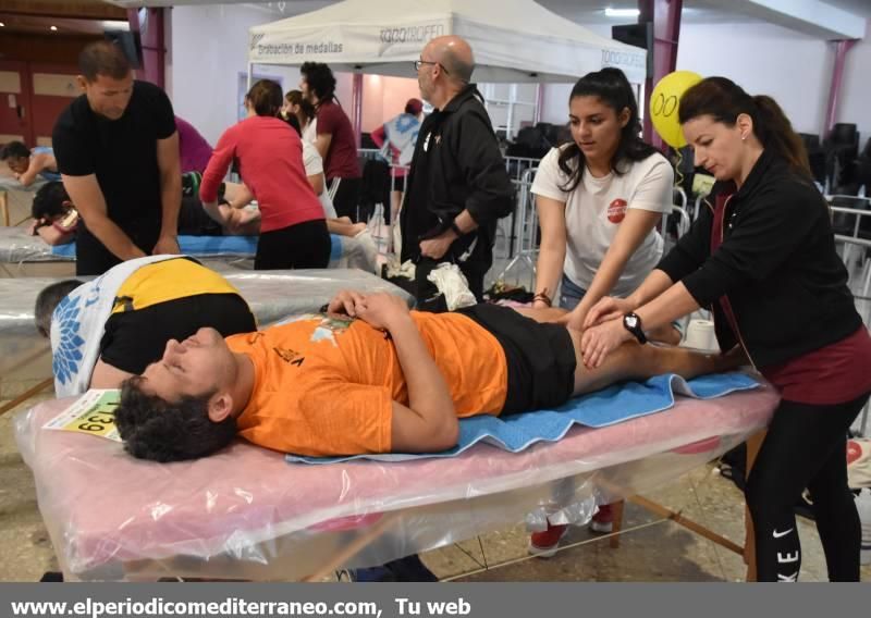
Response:
[[[331,235],[330,267],[376,270],[376,251],[357,238]],[[256,236],[179,236],[183,254],[221,270],[230,264],[253,270]],[[20,276],[74,276],[75,244],[51,246],[33,236],[26,225],[0,227],[0,279]]]

